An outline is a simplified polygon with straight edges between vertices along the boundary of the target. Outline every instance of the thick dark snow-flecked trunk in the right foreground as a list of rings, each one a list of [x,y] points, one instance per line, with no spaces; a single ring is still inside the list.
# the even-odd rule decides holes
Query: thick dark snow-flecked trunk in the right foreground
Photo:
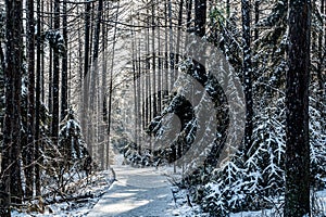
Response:
[[[299,13],[300,12],[300,13]],[[309,78],[311,1],[290,0],[286,87],[285,217],[310,216]]]

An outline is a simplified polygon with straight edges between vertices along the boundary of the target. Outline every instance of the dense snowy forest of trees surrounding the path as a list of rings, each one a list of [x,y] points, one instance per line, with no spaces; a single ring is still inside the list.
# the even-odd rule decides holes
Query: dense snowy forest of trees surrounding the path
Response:
[[[323,216],[325,3],[1,0],[0,216],[89,196],[116,154],[210,216]]]

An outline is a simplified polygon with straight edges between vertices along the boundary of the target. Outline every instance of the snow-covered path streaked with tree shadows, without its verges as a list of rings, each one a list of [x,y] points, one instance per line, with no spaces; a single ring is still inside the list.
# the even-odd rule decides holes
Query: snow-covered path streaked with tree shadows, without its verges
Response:
[[[113,166],[116,181],[87,215],[173,216],[173,196],[166,177],[154,168]]]

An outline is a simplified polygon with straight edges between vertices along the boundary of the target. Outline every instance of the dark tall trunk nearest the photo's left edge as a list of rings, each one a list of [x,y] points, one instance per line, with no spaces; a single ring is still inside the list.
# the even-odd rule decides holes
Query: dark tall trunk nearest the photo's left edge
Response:
[[[5,116],[3,129],[1,183],[3,194],[0,216],[10,216],[10,204],[22,202],[21,164],[21,88],[23,69],[23,1],[7,0],[5,26]]]

